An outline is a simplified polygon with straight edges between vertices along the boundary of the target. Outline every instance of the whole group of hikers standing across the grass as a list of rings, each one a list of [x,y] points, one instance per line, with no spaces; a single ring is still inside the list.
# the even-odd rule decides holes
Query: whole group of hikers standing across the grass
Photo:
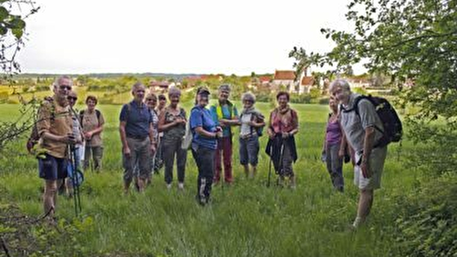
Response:
[[[154,171],[158,172],[162,164],[166,187],[170,189],[175,159],[178,190],[183,190],[187,150],[191,150],[198,168],[196,199],[206,205],[213,185],[220,183],[222,170],[222,183],[234,182],[234,126],[240,127],[235,138],[239,139],[239,161],[246,177],[255,176],[259,137],[266,132],[265,151],[278,174],[278,183],[283,185],[288,180],[289,187],[295,188],[292,164],[297,160],[294,135],[299,132],[299,123],[297,112],[289,106],[289,94],[277,93],[277,107],[266,119],[255,108],[254,94],[246,92],[241,96],[243,108],[238,111],[229,100],[230,91],[230,85],[219,86],[217,101],[208,107],[211,93],[206,87],[199,87],[195,106],[187,116],[180,106],[178,88],[168,90],[167,105],[165,95],[147,93],[142,83],[135,83],[133,100],[122,106],[119,116],[124,193],[129,192],[131,184],[143,192]],[[53,92],[54,96],[46,98],[41,105],[37,121],[39,143],[45,150],[44,156],[38,158],[39,176],[45,180],[43,205],[45,213],[51,214],[55,211],[58,187],[66,184],[71,193],[71,182],[64,183],[68,177],[69,155],[74,153],[77,166],[101,169],[104,125],[104,117],[96,109],[95,96],[87,96],[85,110],[74,112],[77,95],[72,91],[70,77],[59,77],[54,82]],[[356,228],[366,220],[373,203],[373,191],[381,185],[387,154],[387,144],[380,143],[384,134],[383,122],[373,103],[351,92],[346,80],[333,81],[329,93],[331,112],[322,159],[333,187],[340,192],[344,190],[343,161],[352,160],[354,183],[360,189],[357,215],[352,224]]]

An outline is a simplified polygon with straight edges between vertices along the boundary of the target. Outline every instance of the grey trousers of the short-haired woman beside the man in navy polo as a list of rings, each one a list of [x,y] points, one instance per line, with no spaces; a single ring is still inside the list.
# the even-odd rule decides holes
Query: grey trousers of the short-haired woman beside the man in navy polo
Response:
[[[173,181],[173,163],[175,162],[178,170],[178,182],[184,183],[186,171],[187,151],[181,148],[181,138],[162,139],[163,159],[165,162],[165,182],[170,184]]]

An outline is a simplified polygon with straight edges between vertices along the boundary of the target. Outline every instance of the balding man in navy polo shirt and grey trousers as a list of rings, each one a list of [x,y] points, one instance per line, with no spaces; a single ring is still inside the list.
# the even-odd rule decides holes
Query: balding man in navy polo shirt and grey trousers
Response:
[[[145,86],[137,82],[132,87],[133,100],[122,106],[119,117],[119,133],[122,142],[124,166],[124,193],[128,193],[132,180],[137,180],[138,190],[143,192],[149,175],[149,159],[155,152],[153,117],[144,104]],[[134,177],[138,164],[139,174]],[[136,177],[138,176],[138,177]]]

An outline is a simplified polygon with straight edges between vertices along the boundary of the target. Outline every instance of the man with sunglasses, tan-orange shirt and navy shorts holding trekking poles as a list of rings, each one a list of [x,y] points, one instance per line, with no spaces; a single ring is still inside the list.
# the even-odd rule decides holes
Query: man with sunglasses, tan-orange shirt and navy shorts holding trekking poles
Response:
[[[56,208],[57,182],[67,177],[67,146],[76,142],[67,99],[72,85],[69,76],[58,77],[52,100],[45,100],[38,110],[37,130],[44,150],[44,155],[38,157],[38,170],[45,180],[43,208],[49,217],[53,217]]]

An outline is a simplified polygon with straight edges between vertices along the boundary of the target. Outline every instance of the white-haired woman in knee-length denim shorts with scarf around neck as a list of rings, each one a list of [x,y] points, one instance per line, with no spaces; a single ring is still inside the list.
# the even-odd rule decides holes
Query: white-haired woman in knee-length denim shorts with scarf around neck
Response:
[[[259,155],[259,136],[265,126],[265,117],[254,107],[255,95],[246,92],[241,96],[243,110],[239,116],[239,162],[246,177],[254,177]],[[249,165],[252,170],[250,172]]]

